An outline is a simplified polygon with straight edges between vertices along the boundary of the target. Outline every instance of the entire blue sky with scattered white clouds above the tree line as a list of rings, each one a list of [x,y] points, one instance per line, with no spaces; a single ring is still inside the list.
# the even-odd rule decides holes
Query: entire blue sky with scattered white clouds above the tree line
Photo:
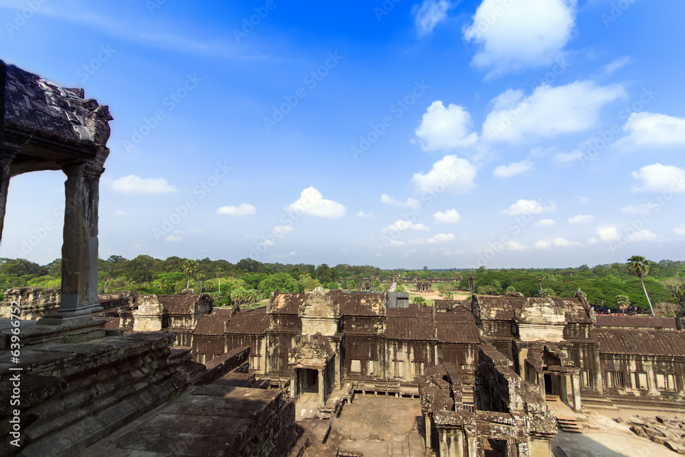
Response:
[[[684,13],[5,0],[0,58],[110,106],[101,258],[682,260]],[[63,182],[12,178],[0,256],[60,257]]]

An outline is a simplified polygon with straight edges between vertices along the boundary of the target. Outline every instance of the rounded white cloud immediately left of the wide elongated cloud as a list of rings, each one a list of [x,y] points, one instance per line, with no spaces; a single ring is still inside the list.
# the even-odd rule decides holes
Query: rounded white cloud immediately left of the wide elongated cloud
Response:
[[[421,117],[421,124],[414,133],[421,141],[421,149],[451,149],[475,145],[478,134],[471,132],[471,116],[461,106],[436,100]]]

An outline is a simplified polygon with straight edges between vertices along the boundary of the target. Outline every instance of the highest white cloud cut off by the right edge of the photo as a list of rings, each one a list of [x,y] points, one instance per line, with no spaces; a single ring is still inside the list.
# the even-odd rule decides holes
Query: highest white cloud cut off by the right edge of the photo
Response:
[[[685,146],[685,117],[654,112],[634,112],[623,125],[628,135],[614,147],[682,147]]]

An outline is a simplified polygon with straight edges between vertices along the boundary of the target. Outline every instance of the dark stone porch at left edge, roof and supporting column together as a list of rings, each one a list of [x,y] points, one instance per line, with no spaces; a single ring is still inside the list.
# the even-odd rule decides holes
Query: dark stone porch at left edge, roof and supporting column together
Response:
[[[60,306],[41,324],[88,321],[97,299],[99,181],[110,150],[106,105],[83,89],[61,88],[0,61],[0,240],[10,179],[22,173],[61,170],[64,243]]]

